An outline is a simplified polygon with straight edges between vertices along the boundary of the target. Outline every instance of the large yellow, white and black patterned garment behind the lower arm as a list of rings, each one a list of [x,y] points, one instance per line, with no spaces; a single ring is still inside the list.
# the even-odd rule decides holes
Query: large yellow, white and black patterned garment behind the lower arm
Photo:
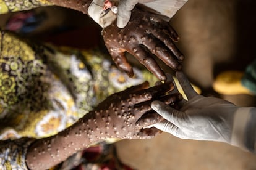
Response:
[[[146,70],[135,69],[129,78],[98,50],[40,46],[4,31],[0,42],[0,140],[51,136],[108,95],[145,79],[156,81]],[[11,145],[19,146],[15,141],[1,145],[6,150],[0,157],[11,166],[19,164],[18,159],[4,155]],[[13,147],[10,154],[18,151],[23,154],[25,148]]]

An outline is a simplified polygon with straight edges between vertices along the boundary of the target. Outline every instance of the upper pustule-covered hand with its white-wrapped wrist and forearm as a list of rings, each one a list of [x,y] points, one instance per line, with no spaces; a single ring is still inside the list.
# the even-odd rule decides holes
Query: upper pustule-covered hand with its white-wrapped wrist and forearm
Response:
[[[127,25],[121,29],[117,26],[117,14],[113,14],[111,10],[108,10],[108,12],[105,11],[106,14],[101,16],[101,14],[104,13],[102,7],[105,1],[103,0],[48,1],[57,6],[68,7],[79,10],[83,12],[83,14],[90,15],[90,17],[103,28],[102,36],[114,63],[130,77],[132,77],[134,73],[132,65],[127,61],[126,52],[133,55],[161,81],[166,80],[166,75],[154,59],[154,55],[162,60],[168,67],[173,68],[173,70],[181,70],[184,55],[174,44],[174,42],[179,41],[179,36],[174,28],[169,25],[169,22],[163,20],[163,16],[139,9],[138,6],[131,9],[130,20]],[[96,2],[103,4],[95,4]],[[134,6],[132,6],[132,8],[133,7]],[[122,15],[122,12],[125,11],[119,10],[118,15]],[[105,17],[110,14],[112,15]]]

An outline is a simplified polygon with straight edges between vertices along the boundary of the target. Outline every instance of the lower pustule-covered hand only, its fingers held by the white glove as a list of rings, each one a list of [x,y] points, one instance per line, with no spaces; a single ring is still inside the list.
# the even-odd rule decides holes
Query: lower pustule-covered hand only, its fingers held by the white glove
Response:
[[[148,139],[159,132],[155,128],[143,129],[156,121],[145,122],[143,127],[136,126],[136,123],[143,114],[152,111],[150,103],[153,100],[161,100],[169,104],[179,102],[181,95],[166,95],[174,88],[173,83],[147,88],[148,82],[132,86],[109,96],[96,107],[94,116],[97,122],[105,124],[102,128],[105,131],[104,134],[122,139]]]

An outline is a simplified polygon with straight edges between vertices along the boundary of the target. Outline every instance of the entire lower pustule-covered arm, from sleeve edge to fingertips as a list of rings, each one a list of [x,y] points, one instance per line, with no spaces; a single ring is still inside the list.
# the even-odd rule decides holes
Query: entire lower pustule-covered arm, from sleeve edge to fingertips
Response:
[[[146,81],[110,95],[73,126],[30,145],[26,159],[28,168],[49,169],[79,150],[106,138],[150,139],[156,136],[160,132],[158,129],[143,127],[157,120],[145,121],[140,126],[137,126],[137,122],[143,114],[152,111],[150,103],[153,100],[161,100],[166,104],[179,102],[181,94],[166,94],[173,88],[173,83],[148,88]]]

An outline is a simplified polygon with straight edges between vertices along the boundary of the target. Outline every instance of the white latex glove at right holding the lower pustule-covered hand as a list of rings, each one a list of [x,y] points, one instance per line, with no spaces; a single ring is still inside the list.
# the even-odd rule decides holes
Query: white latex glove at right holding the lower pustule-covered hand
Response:
[[[240,108],[223,99],[198,95],[183,73],[177,72],[176,76],[188,101],[181,102],[180,110],[160,101],[152,102],[151,108],[164,118],[153,126],[182,139],[212,140],[242,147],[252,108]]]

